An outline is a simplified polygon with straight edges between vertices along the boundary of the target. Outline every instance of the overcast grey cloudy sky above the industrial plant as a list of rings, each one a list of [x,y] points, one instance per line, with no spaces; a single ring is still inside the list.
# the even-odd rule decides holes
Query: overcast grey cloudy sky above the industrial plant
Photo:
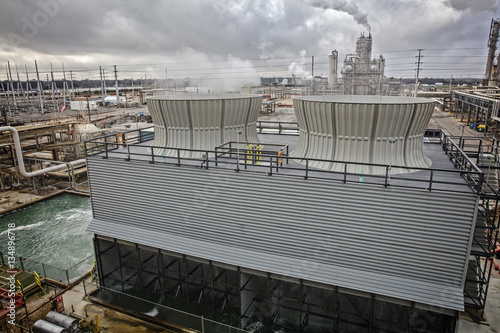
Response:
[[[422,77],[484,74],[492,18],[500,0],[0,0],[0,79],[7,61],[34,61],[45,77],[62,63],[77,79],[204,78],[255,81],[259,76],[327,75],[371,31],[373,56],[386,74]],[[339,64],[339,67],[341,64]]]

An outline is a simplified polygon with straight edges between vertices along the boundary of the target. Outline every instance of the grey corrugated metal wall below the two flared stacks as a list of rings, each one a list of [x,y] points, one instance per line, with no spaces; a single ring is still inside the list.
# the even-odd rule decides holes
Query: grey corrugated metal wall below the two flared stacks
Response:
[[[87,161],[89,231],[461,310],[477,199],[144,161]]]

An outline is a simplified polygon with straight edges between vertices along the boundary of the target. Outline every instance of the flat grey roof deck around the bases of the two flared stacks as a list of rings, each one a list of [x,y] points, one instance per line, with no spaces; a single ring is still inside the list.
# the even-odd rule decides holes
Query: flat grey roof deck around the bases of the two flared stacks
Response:
[[[226,147],[215,151],[193,151],[186,149],[162,148],[163,153],[153,153],[153,141],[140,141],[137,137],[127,143],[87,142],[87,154],[98,154],[103,158],[119,158],[124,160],[142,160],[150,163],[175,164],[197,168],[232,169],[239,172],[260,172],[269,176],[295,176],[317,178],[344,183],[364,183],[390,187],[423,189],[427,191],[449,191],[475,193],[478,191],[481,171],[457,169],[442,144],[428,142],[423,145],[425,155],[432,161],[430,168],[408,168],[396,165],[375,165],[367,163],[351,163],[344,161],[324,160],[325,164],[336,165],[336,170],[328,171],[309,167],[307,159],[289,156],[297,146],[298,136],[259,134],[262,147],[247,148],[249,143],[230,142]],[[111,137],[113,139],[113,137]],[[239,145],[239,150],[238,150]],[[267,148],[268,145],[273,145]],[[283,147],[283,155],[278,156]],[[158,151],[158,147],[155,147]],[[191,156],[195,157],[191,157]],[[196,157],[199,156],[199,157]],[[313,159],[309,159],[313,160]],[[314,159],[314,161],[323,161]],[[474,165],[475,166],[475,165]],[[377,174],[363,172],[377,170]],[[361,171],[359,171],[361,169]],[[465,171],[465,172],[464,172]]]

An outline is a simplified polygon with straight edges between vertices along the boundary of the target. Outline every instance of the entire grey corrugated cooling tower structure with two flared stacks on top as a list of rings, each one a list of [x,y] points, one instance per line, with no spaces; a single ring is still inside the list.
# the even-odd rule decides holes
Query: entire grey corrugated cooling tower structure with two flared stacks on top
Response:
[[[298,98],[297,136],[256,128],[259,98],[154,97],[154,140],[86,142],[101,288],[284,332],[454,332],[484,308],[498,200],[425,130],[433,101]]]

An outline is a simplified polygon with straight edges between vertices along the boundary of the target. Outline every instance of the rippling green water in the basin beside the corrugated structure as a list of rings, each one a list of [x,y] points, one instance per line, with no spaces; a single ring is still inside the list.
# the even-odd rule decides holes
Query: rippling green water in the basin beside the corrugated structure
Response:
[[[16,256],[69,268],[93,254],[90,198],[63,193],[0,215],[0,251],[7,257],[8,225],[14,223]]]

